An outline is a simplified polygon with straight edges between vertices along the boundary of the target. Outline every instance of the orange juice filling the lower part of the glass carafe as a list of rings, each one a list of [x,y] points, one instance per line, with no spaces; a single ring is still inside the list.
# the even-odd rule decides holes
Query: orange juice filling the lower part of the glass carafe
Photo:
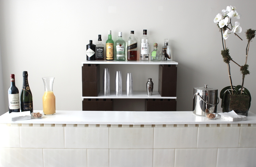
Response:
[[[44,92],[43,96],[43,112],[44,115],[54,115],[56,113],[55,108],[55,95],[53,92]]]

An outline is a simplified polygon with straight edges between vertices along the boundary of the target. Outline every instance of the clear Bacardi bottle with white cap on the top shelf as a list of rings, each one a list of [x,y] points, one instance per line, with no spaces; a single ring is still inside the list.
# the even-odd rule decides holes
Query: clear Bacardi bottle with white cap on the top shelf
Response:
[[[118,40],[115,42],[115,60],[125,60],[125,41],[122,32],[118,32]]]

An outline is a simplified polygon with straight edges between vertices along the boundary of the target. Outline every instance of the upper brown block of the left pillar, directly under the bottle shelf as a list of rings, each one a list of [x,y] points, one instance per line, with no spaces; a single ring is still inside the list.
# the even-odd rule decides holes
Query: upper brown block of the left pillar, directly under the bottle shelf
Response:
[[[99,64],[84,64],[82,66],[82,81],[97,82],[100,79]]]

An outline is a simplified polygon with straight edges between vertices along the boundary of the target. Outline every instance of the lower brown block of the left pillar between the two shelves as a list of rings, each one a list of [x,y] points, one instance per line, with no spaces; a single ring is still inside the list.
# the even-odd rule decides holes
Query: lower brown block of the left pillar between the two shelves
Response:
[[[100,81],[82,82],[82,96],[98,96],[100,93]]]

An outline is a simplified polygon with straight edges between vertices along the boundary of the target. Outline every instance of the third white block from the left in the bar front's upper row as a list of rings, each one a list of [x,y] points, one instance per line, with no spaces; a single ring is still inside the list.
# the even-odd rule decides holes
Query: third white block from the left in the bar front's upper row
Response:
[[[108,149],[108,127],[65,127],[65,148]]]

